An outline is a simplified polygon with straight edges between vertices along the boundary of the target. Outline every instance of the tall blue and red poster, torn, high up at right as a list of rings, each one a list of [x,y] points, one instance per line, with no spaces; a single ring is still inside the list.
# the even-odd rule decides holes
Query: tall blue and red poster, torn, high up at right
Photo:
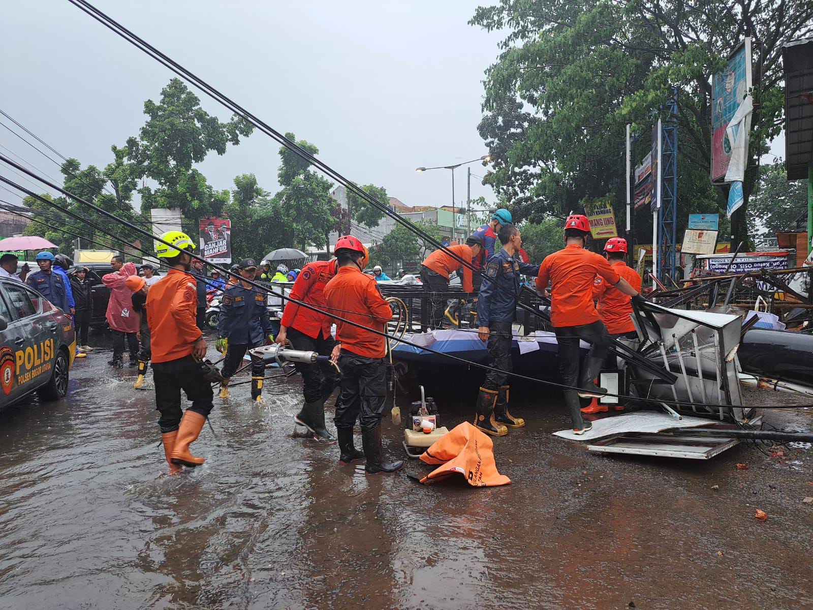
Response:
[[[726,128],[751,88],[751,39],[746,38],[728,58],[723,72],[711,81],[711,181],[725,181],[734,143]]]

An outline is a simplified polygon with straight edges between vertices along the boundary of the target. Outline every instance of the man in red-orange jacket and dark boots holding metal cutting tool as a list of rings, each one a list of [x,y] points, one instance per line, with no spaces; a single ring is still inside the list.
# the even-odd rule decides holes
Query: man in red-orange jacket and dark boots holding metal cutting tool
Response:
[[[336,275],[337,267],[336,259],[317,260],[305,265],[293,282],[290,298],[324,312],[324,287]],[[344,313],[336,312],[336,315],[344,316]],[[330,332],[332,325],[333,319],[330,316],[289,301],[280,320],[280,332],[276,335],[276,342],[285,346],[287,340],[296,350],[315,351],[319,355],[329,356],[336,346]],[[305,403],[293,420],[310,430],[316,440],[335,441],[336,438],[333,438],[324,425],[324,401],[333,394],[333,389],[339,381],[336,369],[330,364],[322,363],[298,362],[294,366],[302,375],[302,394]]]

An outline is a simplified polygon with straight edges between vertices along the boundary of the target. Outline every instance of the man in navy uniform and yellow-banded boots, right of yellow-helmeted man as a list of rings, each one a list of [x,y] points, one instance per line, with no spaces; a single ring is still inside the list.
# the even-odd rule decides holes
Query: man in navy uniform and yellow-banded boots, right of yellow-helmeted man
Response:
[[[252,347],[271,345],[271,319],[266,309],[266,296],[248,283],[254,280],[257,264],[254,259],[243,259],[238,265],[240,276],[246,281],[228,285],[220,303],[220,320],[215,342],[217,350],[224,353],[223,377],[220,398],[228,398],[228,379],[237,372],[246,351]],[[263,377],[265,362],[259,356],[251,356],[251,399],[263,402]]]

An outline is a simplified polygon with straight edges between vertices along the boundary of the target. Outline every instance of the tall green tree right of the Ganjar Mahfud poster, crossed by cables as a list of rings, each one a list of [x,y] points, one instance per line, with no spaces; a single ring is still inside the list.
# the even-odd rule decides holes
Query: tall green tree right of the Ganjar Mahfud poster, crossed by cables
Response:
[[[319,149],[310,142],[296,140],[293,133],[286,133],[293,142],[318,155]],[[328,246],[328,233],[336,224],[331,213],[335,203],[330,196],[333,182],[314,170],[299,155],[280,147],[280,163],[277,176],[282,189],[272,198],[270,214],[276,220],[275,232],[280,247],[306,248],[315,245]]]

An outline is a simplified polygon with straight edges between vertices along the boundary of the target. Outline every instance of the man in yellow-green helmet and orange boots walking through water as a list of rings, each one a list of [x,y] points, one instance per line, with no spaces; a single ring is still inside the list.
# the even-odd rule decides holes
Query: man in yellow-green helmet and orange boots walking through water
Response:
[[[147,323],[150,325],[155,406],[161,413],[159,425],[164,455],[170,471],[179,466],[198,466],[203,458],[189,452],[198,440],[203,424],[214,406],[211,383],[200,368],[206,356],[206,341],[195,324],[198,291],[189,273],[195,245],[186,233],[167,231],[161,236],[172,247],[159,243],[155,253],[172,266],[163,280],[150,287],[147,294]],[[180,409],[180,390],[192,406]]]

